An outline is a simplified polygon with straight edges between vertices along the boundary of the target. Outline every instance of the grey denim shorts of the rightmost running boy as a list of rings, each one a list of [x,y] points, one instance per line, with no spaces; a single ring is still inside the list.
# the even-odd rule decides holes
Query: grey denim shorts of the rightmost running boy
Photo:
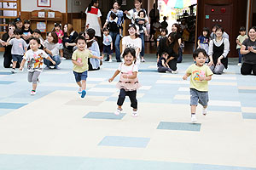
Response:
[[[203,106],[207,106],[208,101],[208,92],[201,92],[195,88],[190,88],[190,105],[198,105],[200,103]]]

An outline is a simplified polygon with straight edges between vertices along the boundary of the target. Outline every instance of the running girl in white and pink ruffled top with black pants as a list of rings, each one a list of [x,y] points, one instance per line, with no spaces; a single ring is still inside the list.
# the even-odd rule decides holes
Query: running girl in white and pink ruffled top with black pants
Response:
[[[113,77],[108,80],[108,82],[112,82],[113,79],[119,75],[119,72],[121,72],[119,82],[117,83],[117,88],[120,89],[119,99],[117,102],[118,108],[114,114],[119,115],[121,111],[123,111],[122,105],[124,104],[125,96],[129,96],[131,100],[131,107],[133,108],[131,115],[136,117],[138,115],[136,94],[137,88],[140,88],[140,83],[137,79],[138,68],[137,65],[134,64],[136,60],[135,49],[125,48],[123,58],[125,62],[119,65],[119,68],[114,72]]]

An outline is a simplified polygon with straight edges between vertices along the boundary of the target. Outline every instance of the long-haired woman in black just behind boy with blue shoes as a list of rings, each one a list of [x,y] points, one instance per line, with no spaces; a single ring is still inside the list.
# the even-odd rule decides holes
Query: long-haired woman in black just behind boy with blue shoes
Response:
[[[62,43],[64,46],[63,49],[63,57],[66,59],[71,59],[73,54],[73,47],[76,46],[75,40],[79,37],[77,31],[73,30],[73,26],[71,24],[65,24],[63,27],[64,37],[62,37]]]

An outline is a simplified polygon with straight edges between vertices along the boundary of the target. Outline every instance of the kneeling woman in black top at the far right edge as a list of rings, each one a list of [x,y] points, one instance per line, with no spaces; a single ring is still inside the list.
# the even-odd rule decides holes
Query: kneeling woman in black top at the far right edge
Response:
[[[243,54],[243,63],[241,65],[242,75],[256,76],[256,26],[253,26],[246,40],[242,42],[241,54]]]

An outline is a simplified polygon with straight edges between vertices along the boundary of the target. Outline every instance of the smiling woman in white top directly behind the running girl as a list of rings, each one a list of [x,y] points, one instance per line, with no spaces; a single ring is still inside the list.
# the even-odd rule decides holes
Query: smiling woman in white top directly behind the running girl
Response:
[[[142,39],[137,37],[137,28],[131,24],[128,28],[129,36],[125,36],[122,39],[122,49],[124,53],[125,48],[134,48],[136,51],[136,65],[140,65],[140,51],[142,49]]]

